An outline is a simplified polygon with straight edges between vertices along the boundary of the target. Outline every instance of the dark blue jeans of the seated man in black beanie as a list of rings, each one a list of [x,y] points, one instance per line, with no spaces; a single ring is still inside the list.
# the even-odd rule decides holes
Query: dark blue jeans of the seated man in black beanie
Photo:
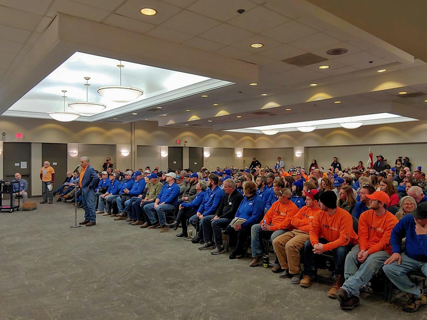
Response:
[[[319,238],[319,243],[327,244],[329,241],[325,238]],[[335,262],[335,271],[333,276],[336,278],[338,275],[344,276],[344,264],[345,257],[350,252],[351,248],[354,247],[354,244],[349,242],[345,246],[337,247],[330,251],[325,251],[325,253],[332,253],[333,260]],[[304,274],[316,278],[317,276],[317,264],[319,259],[323,258],[322,254],[317,254],[313,252],[313,246],[311,245],[310,240],[307,240],[304,244]]]

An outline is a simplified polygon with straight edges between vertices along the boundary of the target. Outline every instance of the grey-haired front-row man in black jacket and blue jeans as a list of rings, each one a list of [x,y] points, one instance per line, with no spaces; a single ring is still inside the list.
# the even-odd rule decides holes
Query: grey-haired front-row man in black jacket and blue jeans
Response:
[[[225,252],[224,245],[222,244],[222,232],[221,229],[225,229],[231,220],[234,218],[239,208],[240,203],[243,200],[243,195],[236,190],[236,183],[233,179],[227,179],[224,181],[225,194],[222,197],[221,203],[218,209],[216,209],[215,215],[212,219],[207,216],[203,218],[203,240],[205,243],[199,247],[199,250],[206,250],[213,248],[212,244],[212,233],[215,239],[216,248],[211,251],[212,254],[219,254]]]

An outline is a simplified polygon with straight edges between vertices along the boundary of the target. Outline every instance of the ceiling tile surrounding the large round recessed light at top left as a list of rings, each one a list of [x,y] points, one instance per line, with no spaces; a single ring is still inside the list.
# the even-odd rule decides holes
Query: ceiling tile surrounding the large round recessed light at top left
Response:
[[[140,9],[143,7],[155,9],[157,10],[157,14],[150,16],[143,15],[140,12]],[[158,0],[144,0],[143,2],[140,0],[129,0],[117,9],[115,13],[157,25],[176,15],[181,10],[176,6]]]

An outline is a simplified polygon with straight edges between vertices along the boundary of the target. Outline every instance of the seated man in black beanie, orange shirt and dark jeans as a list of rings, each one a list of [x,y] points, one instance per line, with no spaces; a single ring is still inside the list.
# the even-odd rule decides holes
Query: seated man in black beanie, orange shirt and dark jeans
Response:
[[[317,255],[329,251],[335,262],[335,283],[328,291],[328,297],[336,298],[336,291],[344,284],[345,257],[357,244],[357,234],[353,230],[351,215],[336,207],[335,192],[322,192],[319,200],[321,210],[311,223],[310,240],[304,244],[304,278],[300,285],[307,288],[316,281]]]

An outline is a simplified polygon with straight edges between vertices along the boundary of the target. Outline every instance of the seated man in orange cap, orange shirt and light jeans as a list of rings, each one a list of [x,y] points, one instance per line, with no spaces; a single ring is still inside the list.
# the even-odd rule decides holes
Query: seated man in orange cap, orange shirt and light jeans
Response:
[[[386,210],[389,196],[382,191],[366,195],[371,199],[369,207],[359,218],[359,244],[345,258],[345,282],[336,291],[342,309],[359,305],[359,291],[383,267],[392,254],[390,236],[398,219]]]

